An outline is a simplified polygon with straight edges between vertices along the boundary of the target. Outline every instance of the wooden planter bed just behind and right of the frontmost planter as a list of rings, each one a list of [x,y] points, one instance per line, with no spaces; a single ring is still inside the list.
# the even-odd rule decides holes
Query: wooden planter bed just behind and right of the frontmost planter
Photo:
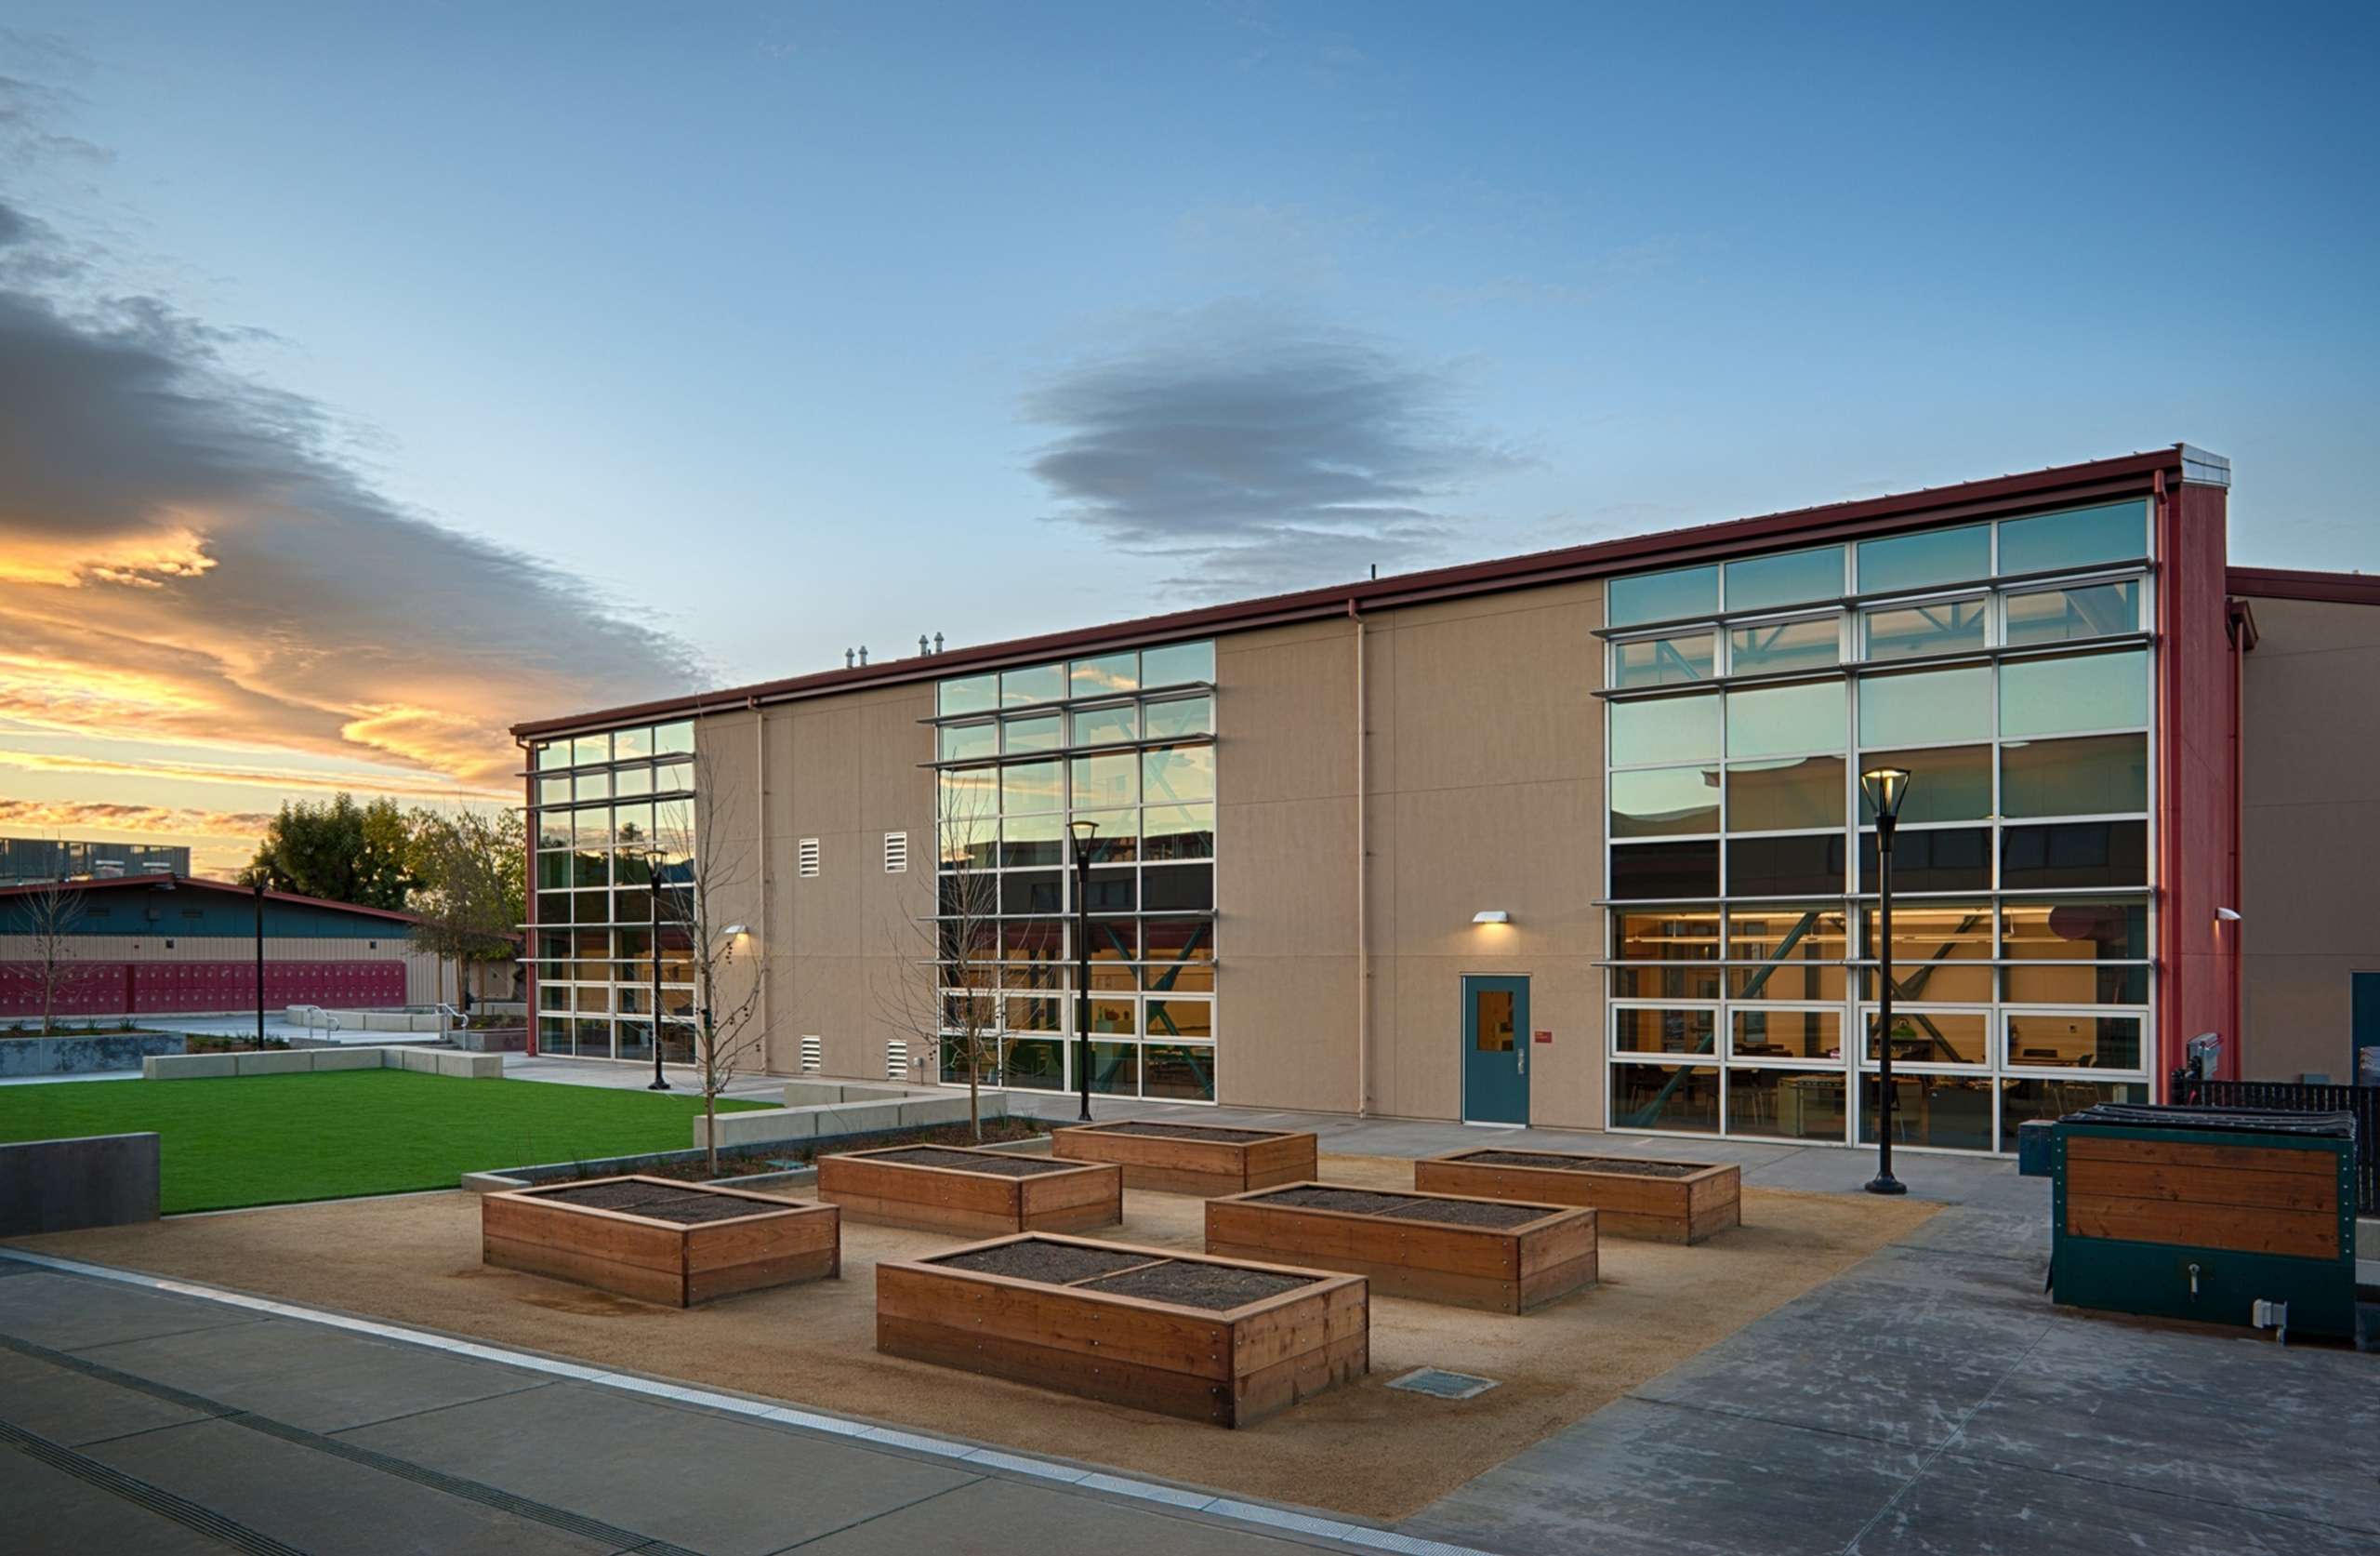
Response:
[[[1209,1199],[1207,1251],[1347,1270],[1388,1297],[1528,1313],[1595,1285],[1595,1211],[1292,1182]]]

